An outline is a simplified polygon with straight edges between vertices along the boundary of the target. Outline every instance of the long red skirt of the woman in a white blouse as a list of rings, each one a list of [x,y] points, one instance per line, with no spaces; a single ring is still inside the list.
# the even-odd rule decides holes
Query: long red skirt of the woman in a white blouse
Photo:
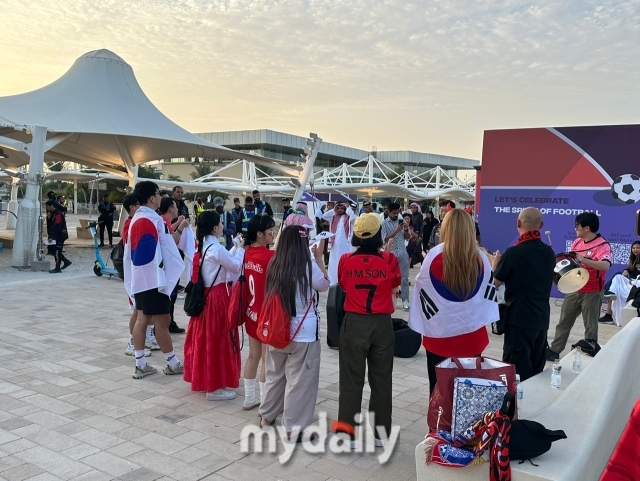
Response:
[[[192,391],[236,388],[241,361],[240,351],[233,352],[229,335],[227,284],[205,288],[204,295],[207,299],[204,311],[189,320],[184,341],[184,380],[191,383]]]

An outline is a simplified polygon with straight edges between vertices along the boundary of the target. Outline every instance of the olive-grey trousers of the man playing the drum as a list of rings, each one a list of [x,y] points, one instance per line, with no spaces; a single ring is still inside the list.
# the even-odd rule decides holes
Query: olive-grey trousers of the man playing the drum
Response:
[[[598,318],[602,306],[601,292],[575,292],[567,294],[560,310],[560,322],[556,326],[556,335],[549,347],[560,354],[564,351],[569,333],[582,313],[584,321],[584,338],[598,340]]]

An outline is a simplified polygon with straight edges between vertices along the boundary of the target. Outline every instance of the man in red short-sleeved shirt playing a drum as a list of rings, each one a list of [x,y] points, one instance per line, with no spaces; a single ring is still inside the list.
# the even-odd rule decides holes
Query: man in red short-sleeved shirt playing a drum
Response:
[[[598,317],[602,306],[604,290],[604,273],[611,267],[611,246],[598,234],[600,219],[593,212],[583,212],[576,216],[576,236],[571,245],[571,252],[576,253],[576,260],[589,272],[589,281],[578,292],[567,294],[560,310],[560,320],[556,326],[556,335],[547,349],[547,359],[553,361],[560,358],[569,333],[582,314],[584,321],[584,338],[586,341],[598,342]]]

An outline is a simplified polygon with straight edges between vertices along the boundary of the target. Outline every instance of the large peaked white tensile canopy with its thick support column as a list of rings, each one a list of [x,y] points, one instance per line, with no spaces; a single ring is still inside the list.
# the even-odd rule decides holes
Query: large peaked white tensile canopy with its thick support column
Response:
[[[31,265],[45,159],[112,173],[117,173],[112,166],[124,165],[130,185],[136,166],[170,157],[240,158],[290,175],[301,171],[187,132],[151,103],[131,66],[104,49],[82,55],[67,73],[41,89],[0,97],[0,148],[0,168],[29,164],[25,197],[17,209],[15,267]],[[12,204],[15,209],[17,202]]]

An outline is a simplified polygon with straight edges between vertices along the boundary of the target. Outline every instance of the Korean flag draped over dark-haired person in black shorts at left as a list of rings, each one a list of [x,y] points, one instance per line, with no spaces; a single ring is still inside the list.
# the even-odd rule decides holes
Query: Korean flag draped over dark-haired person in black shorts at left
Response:
[[[131,297],[155,288],[170,295],[184,270],[178,247],[164,221],[144,206],[131,220],[123,263],[125,289]]]

